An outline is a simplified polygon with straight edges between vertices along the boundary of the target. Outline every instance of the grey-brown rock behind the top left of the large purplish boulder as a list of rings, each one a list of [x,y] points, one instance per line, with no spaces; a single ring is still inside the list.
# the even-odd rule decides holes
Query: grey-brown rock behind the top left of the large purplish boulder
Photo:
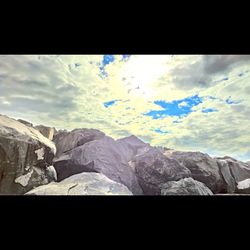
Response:
[[[57,153],[56,157],[68,152],[87,142],[98,140],[104,137],[105,134],[97,129],[74,129],[71,132],[58,132],[53,141],[55,142]]]

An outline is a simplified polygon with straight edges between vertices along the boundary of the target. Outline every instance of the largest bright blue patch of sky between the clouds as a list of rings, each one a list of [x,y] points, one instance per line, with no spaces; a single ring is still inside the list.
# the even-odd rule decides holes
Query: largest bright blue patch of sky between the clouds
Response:
[[[151,116],[153,119],[161,119],[167,116],[183,117],[193,112],[192,108],[199,105],[200,103],[202,103],[202,98],[198,95],[180,100],[174,100],[172,102],[154,101],[154,104],[162,107],[163,109],[151,110],[144,115]]]

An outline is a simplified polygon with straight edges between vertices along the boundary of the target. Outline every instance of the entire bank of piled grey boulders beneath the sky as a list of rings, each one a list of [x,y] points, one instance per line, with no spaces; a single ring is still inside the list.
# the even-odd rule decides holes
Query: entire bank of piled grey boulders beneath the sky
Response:
[[[0,115],[0,194],[25,193],[250,194],[250,165],[152,147],[133,135],[114,140],[97,129],[56,131]]]

